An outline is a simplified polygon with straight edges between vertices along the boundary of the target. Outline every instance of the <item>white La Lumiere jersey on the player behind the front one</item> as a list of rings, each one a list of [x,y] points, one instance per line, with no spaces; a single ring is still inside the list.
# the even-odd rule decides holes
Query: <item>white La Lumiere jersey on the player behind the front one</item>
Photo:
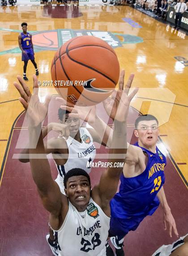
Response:
[[[56,179],[61,193],[64,193],[64,175],[73,168],[81,168],[87,173],[91,171],[91,165],[94,161],[96,149],[89,131],[86,128],[80,128],[81,143],[71,136],[66,140],[68,147],[68,159],[64,165],[56,165],[58,176]],[[89,166],[87,166],[87,164]]]

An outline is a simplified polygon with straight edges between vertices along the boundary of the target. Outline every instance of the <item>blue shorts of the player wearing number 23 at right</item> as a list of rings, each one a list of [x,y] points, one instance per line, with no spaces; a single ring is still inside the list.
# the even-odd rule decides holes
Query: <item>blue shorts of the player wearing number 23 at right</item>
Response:
[[[146,216],[145,216],[146,217]],[[129,231],[134,231],[137,229],[141,221],[145,217],[131,217],[127,219],[119,219],[111,217],[110,219],[110,229],[109,229],[109,236],[118,236],[118,239],[124,238]]]

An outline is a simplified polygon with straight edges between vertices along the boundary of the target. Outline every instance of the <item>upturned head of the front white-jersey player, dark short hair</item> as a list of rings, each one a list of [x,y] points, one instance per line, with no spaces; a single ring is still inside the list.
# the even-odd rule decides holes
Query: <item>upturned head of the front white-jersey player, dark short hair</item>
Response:
[[[80,168],[71,169],[64,176],[64,191],[70,202],[79,210],[90,201],[90,176]]]

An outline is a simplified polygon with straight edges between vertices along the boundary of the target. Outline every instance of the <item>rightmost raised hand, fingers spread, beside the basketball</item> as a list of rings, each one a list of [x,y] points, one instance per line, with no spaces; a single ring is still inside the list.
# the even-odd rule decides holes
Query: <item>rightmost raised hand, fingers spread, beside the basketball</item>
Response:
[[[124,87],[124,73],[125,71],[123,69],[120,72],[119,89],[112,93],[111,98],[107,98],[103,101],[104,108],[109,117],[117,121],[126,121],[129,104],[138,91],[138,88],[135,88],[132,93],[128,95],[134,74],[129,76],[127,84]]]

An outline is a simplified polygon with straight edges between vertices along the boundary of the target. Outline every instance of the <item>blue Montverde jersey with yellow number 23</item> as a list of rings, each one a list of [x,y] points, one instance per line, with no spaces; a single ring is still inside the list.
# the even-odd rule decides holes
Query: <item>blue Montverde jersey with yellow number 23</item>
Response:
[[[135,146],[139,147],[138,143]],[[158,208],[156,196],[165,182],[166,157],[156,147],[156,153],[140,147],[147,153],[148,163],[140,175],[131,178],[120,177],[120,191],[111,200],[111,216],[115,218],[144,217],[152,215]]]

